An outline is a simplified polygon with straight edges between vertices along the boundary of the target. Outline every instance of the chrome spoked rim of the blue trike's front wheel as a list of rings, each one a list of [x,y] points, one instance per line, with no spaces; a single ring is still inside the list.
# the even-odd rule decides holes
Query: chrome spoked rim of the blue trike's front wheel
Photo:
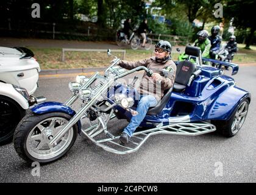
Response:
[[[72,141],[73,127],[55,146],[50,146],[49,142],[67,123],[68,120],[61,117],[52,117],[38,122],[27,137],[27,152],[39,160],[48,160],[62,154]]]

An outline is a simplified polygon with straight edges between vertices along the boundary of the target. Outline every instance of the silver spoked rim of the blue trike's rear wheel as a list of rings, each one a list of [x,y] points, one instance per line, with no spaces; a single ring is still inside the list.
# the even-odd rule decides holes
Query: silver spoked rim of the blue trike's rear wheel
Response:
[[[240,105],[238,110],[236,111],[235,117],[234,117],[233,122],[232,122],[231,132],[233,133],[233,135],[235,133],[237,133],[238,130],[240,130],[241,127],[243,126],[244,121],[246,119],[247,112],[248,112],[248,102],[244,101]]]

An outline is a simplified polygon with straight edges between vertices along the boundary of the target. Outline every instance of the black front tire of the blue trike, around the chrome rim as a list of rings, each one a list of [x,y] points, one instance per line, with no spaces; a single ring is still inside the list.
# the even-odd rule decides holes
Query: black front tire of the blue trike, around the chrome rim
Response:
[[[46,113],[43,115],[37,115],[33,112],[30,112],[22,119],[22,121],[20,121],[20,123],[16,127],[14,137],[13,137],[13,143],[14,143],[16,152],[18,153],[18,155],[21,158],[23,158],[23,160],[26,160],[29,162],[30,161],[38,161],[39,163],[48,163],[50,161],[57,160],[58,158],[65,155],[66,152],[68,152],[69,149],[71,149],[71,147],[73,146],[74,142],[76,141],[77,132],[78,132],[77,124],[75,124],[73,126],[73,133],[72,133],[72,131],[69,130],[69,132],[71,132],[71,134],[72,134],[71,138],[69,139],[71,141],[68,143],[68,145],[66,147],[63,148],[63,151],[61,151],[60,154],[58,154],[52,158],[45,159],[45,158],[37,158],[37,157],[33,156],[31,152],[29,152],[29,150],[27,149],[26,143],[27,143],[27,139],[30,135],[30,132],[32,132],[32,130],[38,124],[40,124],[40,122],[46,121],[49,118],[63,118],[63,119],[66,119],[66,121],[69,121],[71,119],[71,116],[67,115],[66,113],[60,113],[60,112]],[[67,133],[69,133],[69,132],[67,132]]]

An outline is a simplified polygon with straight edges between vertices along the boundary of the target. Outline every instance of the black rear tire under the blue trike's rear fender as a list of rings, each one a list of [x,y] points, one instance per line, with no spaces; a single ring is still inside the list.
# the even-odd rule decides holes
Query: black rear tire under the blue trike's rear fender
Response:
[[[246,114],[244,115],[244,118],[243,118],[243,121],[241,121],[241,124],[239,124],[239,126],[237,128],[235,127],[236,129],[233,129],[233,125],[234,125],[233,122],[235,122],[235,119],[237,119],[238,110],[241,108],[241,106],[243,104],[246,104],[246,107],[247,107]],[[227,120],[227,121],[212,121],[212,124],[214,124],[216,126],[216,129],[218,130],[218,132],[220,132],[225,137],[233,137],[234,135],[236,135],[236,133],[238,133],[238,131],[243,126],[243,123],[246,119],[246,115],[248,112],[248,107],[249,107],[249,100],[244,99],[243,101],[240,102],[240,104],[238,104],[238,106],[236,107],[235,111],[233,112],[233,114],[229,120]],[[242,112],[243,112],[243,110],[242,110]]]

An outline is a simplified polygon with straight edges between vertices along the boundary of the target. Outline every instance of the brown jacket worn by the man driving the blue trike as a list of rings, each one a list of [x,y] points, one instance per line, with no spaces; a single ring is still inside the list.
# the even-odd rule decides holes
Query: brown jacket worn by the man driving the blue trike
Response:
[[[143,74],[143,77],[140,82],[140,87],[137,89],[138,93],[141,94],[150,94],[155,96],[157,101],[163,97],[164,91],[172,87],[175,74],[176,74],[176,65],[172,60],[165,60],[163,62],[156,62],[155,57],[149,59],[140,60],[137,62],[128,62],[126,60],[121,60],[118,64],[122,68],[133,69],[138,66],[145,66],[148,69],[151,69],[154,73],[159,73],[162,76],[162,81],[160,83],[155,82],[152,77],[148,77],[146,72]],[[172,69],[174,74],[164,75],[162,69]]]

